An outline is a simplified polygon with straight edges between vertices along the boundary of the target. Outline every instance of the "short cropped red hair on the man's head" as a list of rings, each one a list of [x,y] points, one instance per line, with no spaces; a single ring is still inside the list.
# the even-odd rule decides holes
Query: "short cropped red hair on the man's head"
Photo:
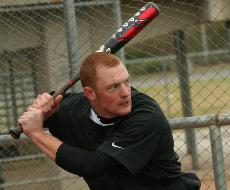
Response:
[[[103,65],[111,68],[121,64],[120,59],[110,53],[95,52],[82,62],[80,67],[80,80],[83,87],[96,87],[97,67]]]

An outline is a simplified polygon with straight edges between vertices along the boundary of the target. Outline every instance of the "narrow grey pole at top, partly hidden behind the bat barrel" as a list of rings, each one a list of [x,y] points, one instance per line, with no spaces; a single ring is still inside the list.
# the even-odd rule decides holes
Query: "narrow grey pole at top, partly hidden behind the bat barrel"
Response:
[[[114,6],[114,17],[116,18],[116,27],[120,27],[122,22],[122,12],[121,12],[121,3],[120,0],[113,0],[113,6]],[[124,48],[122,48],[118,53],[121,61],[125,64],[125,51]]]

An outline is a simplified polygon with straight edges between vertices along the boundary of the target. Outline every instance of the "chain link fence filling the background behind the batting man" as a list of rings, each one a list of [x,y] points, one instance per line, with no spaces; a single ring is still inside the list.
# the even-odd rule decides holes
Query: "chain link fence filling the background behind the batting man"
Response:
[[[0,190],[88,189],[8,133],[37,94],[65,84],[145,3],[0,1]],[[183,171],[195,171],[203,190],[230,189],[230,1],[155,3],[160,16],[117,55],[168,117]]]

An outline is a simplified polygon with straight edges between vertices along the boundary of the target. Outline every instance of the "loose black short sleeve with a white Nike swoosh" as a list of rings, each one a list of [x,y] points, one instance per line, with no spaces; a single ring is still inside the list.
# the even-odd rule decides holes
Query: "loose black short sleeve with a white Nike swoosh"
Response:
[[[169,124],[161,112],[139,111],[121,122],[99,149],[137,174],[156,154],[164,125]]]

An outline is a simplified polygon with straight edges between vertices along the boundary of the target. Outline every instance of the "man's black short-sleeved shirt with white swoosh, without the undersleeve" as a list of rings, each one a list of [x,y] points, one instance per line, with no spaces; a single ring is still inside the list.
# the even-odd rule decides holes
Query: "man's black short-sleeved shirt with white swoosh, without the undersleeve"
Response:
[[[115,172],[85,178],[91,189],[160,190],[181,175],[170,125],[152,98],[132,89],[131,112],[111,126],[93,122],[90,110],[83,93],[68,94],[46,125],[65,144],[102,151],[121,164]]]

